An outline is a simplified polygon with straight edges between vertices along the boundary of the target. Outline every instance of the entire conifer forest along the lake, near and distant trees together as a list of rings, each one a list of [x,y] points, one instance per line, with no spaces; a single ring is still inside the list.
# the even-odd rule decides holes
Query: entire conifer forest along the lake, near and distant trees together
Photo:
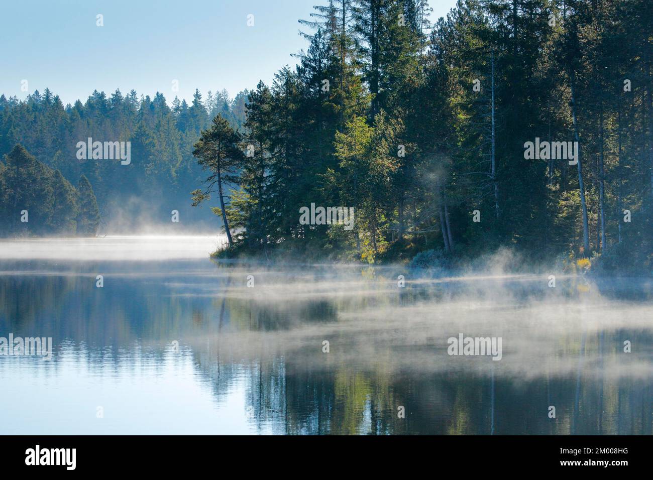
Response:
[[[40,232],[94,233],[95,198],[107,223],[125,208],[192,222],[192,203],[225,229],[217,255],[383,263],[510,248],[650,274],[648,1],[461,0],[436,20],[423,0],[331,0],[299,29],[296,66],[234,99],[0,97],[0,208],[15,217],[3,233],[19,233],[27,194]],[[78,161],[87,137],[131,141],[131,164]],[[353,207],[353,229],[300,223],[311,204]]]

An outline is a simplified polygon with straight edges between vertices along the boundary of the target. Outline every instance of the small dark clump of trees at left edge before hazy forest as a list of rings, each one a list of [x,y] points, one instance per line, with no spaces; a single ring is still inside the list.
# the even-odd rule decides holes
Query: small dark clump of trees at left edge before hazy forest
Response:
[[[95,236],[95,194],[82,174],[77,187],[17,145],[0,162],[0,236]]]

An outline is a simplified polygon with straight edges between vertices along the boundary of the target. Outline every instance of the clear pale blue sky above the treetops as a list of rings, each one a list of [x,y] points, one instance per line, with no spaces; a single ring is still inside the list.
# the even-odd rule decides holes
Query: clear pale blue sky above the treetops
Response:
[[[64,104],[135,89],[168,103],[192,99],[195,88],[223,88],[233,97],[269,84],[291,53],[306,48],[298,18],[327,0],[20,0],[2,7],[0,93],[24,99],[46,87]],[[431,0],[431,20],[455,0]],[[96,26],[103,14],[104,26]],[[253,14],[254,26],[247,27]],[[172,91],[172,80],[179,91]]]

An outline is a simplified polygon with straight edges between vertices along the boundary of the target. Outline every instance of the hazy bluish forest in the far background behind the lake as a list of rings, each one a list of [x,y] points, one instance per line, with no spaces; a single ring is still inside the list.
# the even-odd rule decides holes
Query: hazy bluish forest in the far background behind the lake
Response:
[[[20,144],[69,182],[76,184],[86,176],[106,223],[120,217],[138,227],[144,216],[170,222],[171,210],[178,210],[186,227],[202,217],[215,225],[209,210],[190,206],[189,193],[202,178],[193,144],[218,113],[242,129],[246,97],[244,91],[230,100],[221,91],[202,99],[196,91],[191,104],[174,97],[168,105],[162,93],[151,99],[138,97],[133,90],[127,95],[116,90],[109,97],[94,91],[85,103],[64,106],[49,89],[35,91],[25,100],[0,95],[0,162]],[[88,138],[131,142],[131,163],[78,159],[77,144]]]

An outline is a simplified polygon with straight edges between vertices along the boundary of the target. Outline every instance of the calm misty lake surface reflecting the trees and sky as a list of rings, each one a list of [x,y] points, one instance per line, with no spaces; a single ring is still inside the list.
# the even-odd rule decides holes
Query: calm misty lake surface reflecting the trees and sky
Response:
[[[652,433],[650,281],[224,265],[215,244],[0,242],[0,336],[54,345],[0,356],[0,433]],[[502,360],[449,357],[460,333]]]

